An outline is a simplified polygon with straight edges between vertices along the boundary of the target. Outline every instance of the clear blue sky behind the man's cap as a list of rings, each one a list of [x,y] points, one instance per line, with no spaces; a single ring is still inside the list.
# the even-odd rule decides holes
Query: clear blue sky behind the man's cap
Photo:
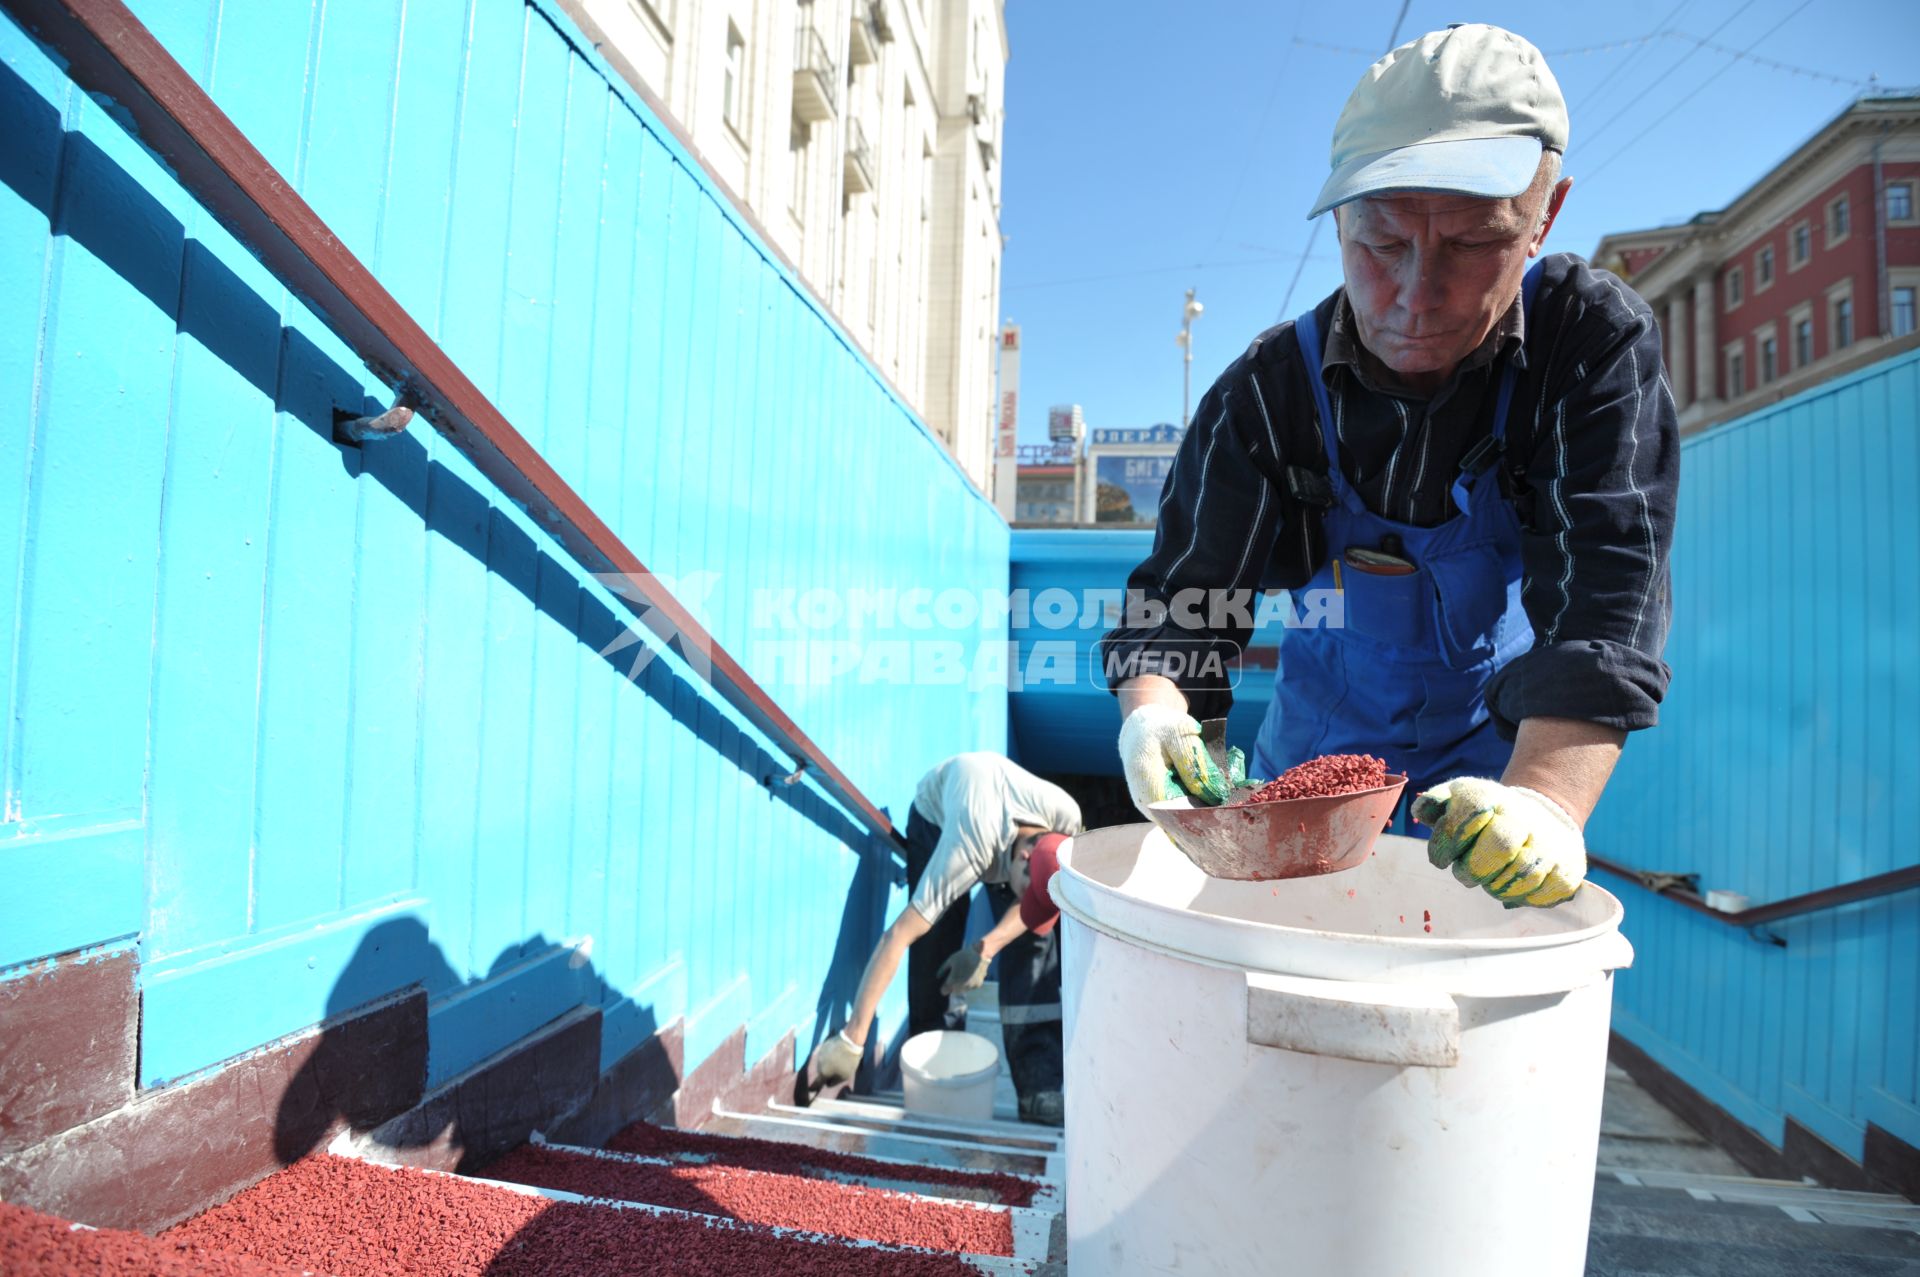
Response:
[[[1089,426],[1179,421],[1188,286],[1206,305],[1196,401],[1281,319],[1334,117],[1398,12],[1008,2],[1000,311],[1021,325],[1021,442],[1046,438],[1050,403],[1085,405]],[[1572,113],[1574,179],[1548,246],[1582,255],[1609,230],[1722,207],[1859,81],[1920,84],[1914,0],[1411,0],[1402,40],[1450,21],[1498,23],[1546,50]],[[1286,313],[1338,282],[1323,227]]]

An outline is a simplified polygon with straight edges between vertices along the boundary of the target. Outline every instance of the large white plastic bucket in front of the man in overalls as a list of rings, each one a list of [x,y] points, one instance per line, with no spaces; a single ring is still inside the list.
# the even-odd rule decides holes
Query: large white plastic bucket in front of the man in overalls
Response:
[[[1507,910],[1392,835],[1271,883],[1144,824],[1060,864],[1075,1277],[1584,1271],[1613,895]]]

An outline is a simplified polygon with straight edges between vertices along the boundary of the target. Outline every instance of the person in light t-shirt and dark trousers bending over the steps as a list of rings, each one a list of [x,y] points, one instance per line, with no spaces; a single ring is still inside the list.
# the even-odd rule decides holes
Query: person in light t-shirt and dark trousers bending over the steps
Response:
[[[1066,789],[1000,755],[954,755],[922,776],[906,818],[912,899],[868,958],[847,1027],[814,1048],[808,1064],[814,1083],[852,1081],[900,954],[906,954],[908,1033],[964,1029],[962,993],[985,981],[987,964],[998,954],[1000,1035],[1020,1116],[1060,1125],[1060,947],[1046,922],[1052,904],[1023,904],[1021,893],[1031,893],[1027,862],[1035,845],[1048,833],[1079,830],[1079,805]],[[1044,841],[1043,864],[1050,864],[1054,841]],[[979,943],[966,945],[968,899],[981,881],[998,922]],[[1044,879],[1039,889],[1044,893]]]

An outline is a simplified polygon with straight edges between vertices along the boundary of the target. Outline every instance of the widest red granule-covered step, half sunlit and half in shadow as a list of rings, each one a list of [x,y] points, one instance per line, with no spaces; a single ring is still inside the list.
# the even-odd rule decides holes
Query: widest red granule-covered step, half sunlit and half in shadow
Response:
[[[359,1277],[970,1277],[956,1256],[778,1237],[718,1219],[549,1202],[511,1189],[315,1154],[165,1241]]]

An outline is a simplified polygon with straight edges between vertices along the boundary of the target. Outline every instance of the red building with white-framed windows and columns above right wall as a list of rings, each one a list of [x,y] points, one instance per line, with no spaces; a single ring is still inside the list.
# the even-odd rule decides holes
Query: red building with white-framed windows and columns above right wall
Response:
[[[1920,342],[1920,96],[1855,100],[1728,207],[1594,261],[1659,315],[1682,430]]]

